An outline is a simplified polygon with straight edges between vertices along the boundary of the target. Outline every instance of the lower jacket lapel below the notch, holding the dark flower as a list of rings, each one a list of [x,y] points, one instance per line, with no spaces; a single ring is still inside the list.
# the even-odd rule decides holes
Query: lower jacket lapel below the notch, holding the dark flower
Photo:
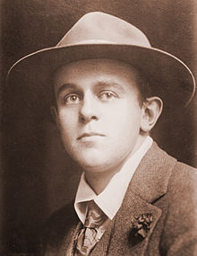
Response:
[[[130,196],[130,205],[128,206],[124,201],[123,206],[117,213],[108,255],[142,255],[144,247],[149,243],[150,235],[158,222],[158,218],[161,216],[161,210],[158,207],[152,206],[133,193]],[[124,205],[127,205],[126,210]],[[151,214],[153,221],[149,232],[143,238],[137,232],[133,232],[133,220],[135,216],[141,216],[145,213]]]

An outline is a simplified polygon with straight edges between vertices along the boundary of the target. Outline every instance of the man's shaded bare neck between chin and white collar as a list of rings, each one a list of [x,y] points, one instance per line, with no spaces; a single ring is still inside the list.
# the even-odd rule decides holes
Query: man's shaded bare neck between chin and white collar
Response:
[[[130,152],[124,157],[124,160],[116,166],[111,168],[107,168],[106,170],[100,170],[99,172],[92,172],[84,170],[86,181],[89,183],[92,190],[95,191],[97,195],[99,195],[103,190],[106,189],[109,181],[111,181],[112,177],[121,171],[124,163],[127,159],[133,155],[143,144],[146,137],[141,137],[141,139],[136,143],[136,146],[133,148],[132,153]]]

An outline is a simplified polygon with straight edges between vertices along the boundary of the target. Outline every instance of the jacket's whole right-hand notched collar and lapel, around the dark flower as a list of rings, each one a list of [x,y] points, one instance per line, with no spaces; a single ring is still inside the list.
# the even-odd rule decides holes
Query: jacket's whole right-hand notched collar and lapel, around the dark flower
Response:
[[[153,203],[167,192],[167,183],[175,163],[176,159],[153,143],[135,171],[116,214],[107,255],[144,255],[162,214],[162,210]],[[135,216],[142,214],[153,216],[145,237],[133,229],[133,221],[138,224]]]

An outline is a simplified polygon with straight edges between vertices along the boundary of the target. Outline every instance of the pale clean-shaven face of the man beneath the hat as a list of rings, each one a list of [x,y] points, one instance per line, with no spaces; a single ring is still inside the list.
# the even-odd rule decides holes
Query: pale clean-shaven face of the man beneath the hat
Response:
[[[116,170],[140,145],[134,68],[112,59],[81,60],[61,66],[54,81],[68,154],[87,172]]]

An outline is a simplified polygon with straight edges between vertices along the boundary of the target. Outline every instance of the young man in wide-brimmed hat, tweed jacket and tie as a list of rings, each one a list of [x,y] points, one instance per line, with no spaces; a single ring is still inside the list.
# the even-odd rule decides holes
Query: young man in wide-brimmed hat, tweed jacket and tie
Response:
[[[196,171],[150,137],[162,109],[193,98],[183,62],[151,48],[133,25],[88,13],[55,48],[19,60],[8,74],[12,93],[18,81],[28,83],[24,106],[51,106],[65,150],[83,170],[74,202],[46,225],[43,254],[197,253]]]

